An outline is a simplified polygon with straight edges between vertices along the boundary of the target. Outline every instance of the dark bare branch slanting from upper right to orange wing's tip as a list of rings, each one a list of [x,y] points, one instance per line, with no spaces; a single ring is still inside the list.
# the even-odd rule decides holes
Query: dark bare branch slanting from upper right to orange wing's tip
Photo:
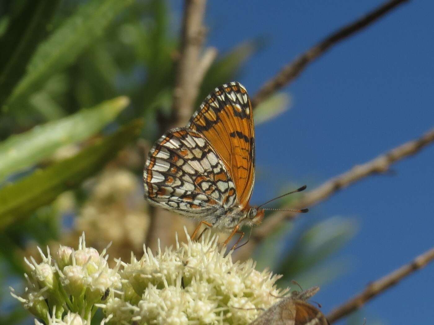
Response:
[[[252,99],[253,107],[256,107],[261,101],[269,97],[275,91],[279,90],[290,81],[294,80],[301,71],[303,71],[306,66],[318,58],[320,55],[324,54],[330,47],[334,46],[343,39],[352,36],[359,30],[367,27],[368,25],[374,23],[376,20],[384,16],[386,13],[397,7],[399,4],[407,2],[408,0],[390,0],[376,8],[372,12],[368,13],[364,17],[356,20],[355,22],[343,26],[341,29],[332,33],[327,38],[313,46],[307,52],[300,55],[292,63],[283,67],[279,73],[267,81],[262,88],[256,93]]]

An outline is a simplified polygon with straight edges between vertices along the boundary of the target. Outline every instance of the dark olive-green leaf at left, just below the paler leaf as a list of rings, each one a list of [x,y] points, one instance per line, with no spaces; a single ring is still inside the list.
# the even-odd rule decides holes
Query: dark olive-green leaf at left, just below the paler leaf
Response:
[[[98,172],[119,149],[138,136],[142,125],[142,120],[135,120],[76,156],[53,163],[15,184],[3,187],[0,190],[0,230]]]

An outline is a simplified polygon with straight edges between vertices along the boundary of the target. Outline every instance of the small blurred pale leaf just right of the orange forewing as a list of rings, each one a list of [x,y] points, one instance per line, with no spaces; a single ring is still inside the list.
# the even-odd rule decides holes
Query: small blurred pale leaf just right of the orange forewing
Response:
[[[289,109],[291,97],[286,93],[276,93],[255,108],[255,125],[264,123]]]

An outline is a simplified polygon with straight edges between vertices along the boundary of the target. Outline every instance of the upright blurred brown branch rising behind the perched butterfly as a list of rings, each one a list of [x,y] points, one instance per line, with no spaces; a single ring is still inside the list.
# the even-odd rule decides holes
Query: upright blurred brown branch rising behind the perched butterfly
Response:
[[[178,71],[173,94],[174,125],[187,123],[191,117],[194,100],[199,89],[197,63],[204,41],[205,28],[202,21],[206,0],[186,0],[182,21],[182,35]]]

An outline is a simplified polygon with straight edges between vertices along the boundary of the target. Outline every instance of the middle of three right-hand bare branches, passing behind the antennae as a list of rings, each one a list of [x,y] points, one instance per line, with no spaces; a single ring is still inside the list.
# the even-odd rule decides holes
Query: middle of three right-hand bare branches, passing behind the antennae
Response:
[[[288,208],[306,208],[316,205],[319,202],[324,201],[326,198],[329,198],[330,195],[338,192],[340,189],[358,182],[365,177],[387,172],[393,163],[418,153],[422,148],[433,142],[434,129],[428,131],[417,140],[408,141],[395,149],[391,149],[383,155],[365,162],[362,165],[354,166],[348,172],[344,172],[306,193],[296,203]],[[237,255],[237,257],[243,259],[250,256],[254,247],[260,244],[260,242],[269,234],[274,232],[284,220],[293,219],[296,218],[296,216],[297,214],[283,211],[275,212],[270,215],[270,217],[266,218],[265,222],[260,227],[255,229],[249,244],[240,250],[239,254],[242,255]]]

